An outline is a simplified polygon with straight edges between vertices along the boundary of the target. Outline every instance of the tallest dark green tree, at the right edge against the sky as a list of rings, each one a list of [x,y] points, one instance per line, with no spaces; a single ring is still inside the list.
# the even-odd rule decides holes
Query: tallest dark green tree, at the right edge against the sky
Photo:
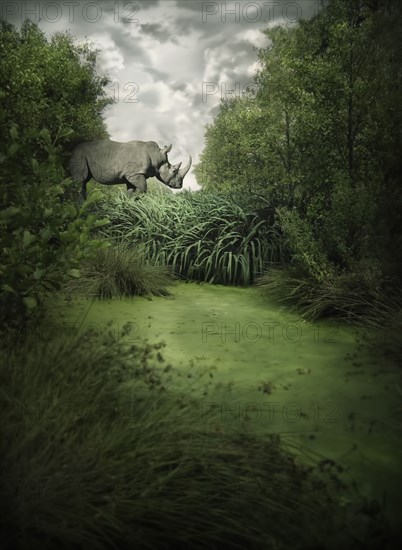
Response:
[[[373,256],[378,202],[395,183],[400,30],[400,9],[385,2],[332,0],[311,21],[267,31],[272,45],[260,53],[259,101],[282,112],[279,156],[298,184],[295,204],[330,260],[347,269]]]

